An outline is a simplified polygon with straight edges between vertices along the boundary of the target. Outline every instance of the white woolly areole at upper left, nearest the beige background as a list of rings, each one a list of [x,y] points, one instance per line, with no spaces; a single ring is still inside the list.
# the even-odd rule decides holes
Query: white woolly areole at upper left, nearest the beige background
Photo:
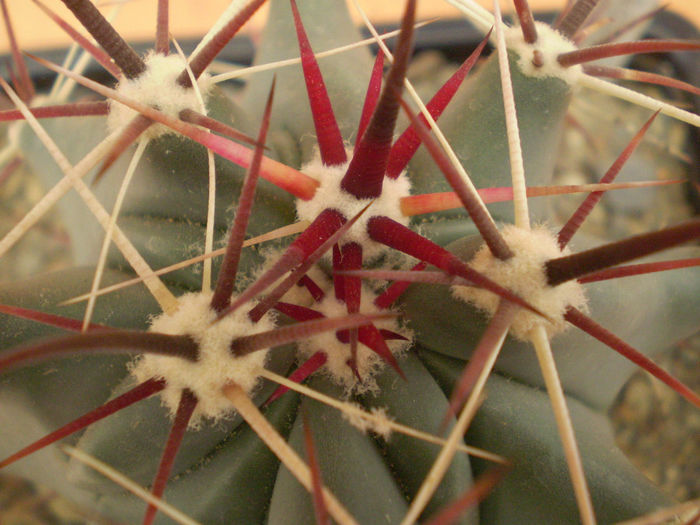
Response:
[[[177,54],[162,55],[150,52],[144,58],[146,71],[138,78],[123,78],[117,84],[116,90],[125,97],[152,106],[166,115],[178,118],[183,109],[202,112],[201,104],[195,90],[184,88],[176,82],[177,77],[185,69],[186,61]],[[204,102],[210,88],[209,76],[203,74],[197,80],[197,85]],[[119,102],[110,100],[107,127],[111,132],[131,122],[138,115],[136,111]],[[163,124],[154,124],[144,133],[144,137],[153,139],[167,133],[175,133]]]

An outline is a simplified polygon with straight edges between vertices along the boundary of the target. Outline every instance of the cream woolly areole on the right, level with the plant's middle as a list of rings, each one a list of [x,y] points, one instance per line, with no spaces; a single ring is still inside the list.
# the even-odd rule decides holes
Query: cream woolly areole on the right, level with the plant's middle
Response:
[[[567,255],[569,250],[560,250],[555,236],[544,226],[532,230],[506,226],[501,233],[513,251],[513,257],[501,261],[483,245],[469,265],[516,293],[552,320],[547,321],[521,308],[510,327],[510,334],[526,341],[529,340],[530,331],[540,324],[545,327],[549,337],[564,331],[568,326],[564,320],[566,309],[573,306],[585,310],[586,297],[578,281],[567,281],[557,286],[547,284],[544,264],[549,259]],[[496,294],[476,287],[453,286],[452,295],[489,315],[496,312],[499,303]]]

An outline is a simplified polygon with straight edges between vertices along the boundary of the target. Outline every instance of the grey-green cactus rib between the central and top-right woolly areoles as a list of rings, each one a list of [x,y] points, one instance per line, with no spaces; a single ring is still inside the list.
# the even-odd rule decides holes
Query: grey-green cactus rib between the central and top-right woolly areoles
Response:
[[[523,130],[537,130],[536,133],[522,134],[528,184],[545,185],[551,180],[557,136],[561,133],[571,98],[571,87],[558,78],[527,77],[520,72],[514,60],[511,60],[511,71],[515,96],[518,101],[523,101],[517,106],[518,122]],[[511,184],[503,108],[487,102],[491,97],[502,98],[499,79],[498,61],[496,56],[492,56],[481,67],[478,75],[467,80],[451,102],[451,110],[440,118],[440,129],[449,139],[477,188]],[[481,155],[486,148],[493,151],[494,155]],[[413,191],[416,194],[450,191],[444,177],[436,175],[435,164],[421,148],[411,163]],[[533,202],[533,205],[537,206],[537,203]],[[513,206],[509,202],[492,204],[489,210],[495,220],[505,223],[513,221]],[[547,217],[546,209],[535,208],[532,213],[534,220],[544,220]],[[441,220],[435,221],[437,224],[426,226],[430,228],[431,234],[433,229],[436,230],[434,236],[440,244],[456,240],[455,234],[449,233],[451,217],[457,215],[457,220],[464,222],[460,220],[464,217],[463,211],[445,212],[444,215]],[[448,224],[443,225],[443,221]],[[438,233],[442,228],[446,230],[444,236]],[[464,232],[463,226],[454,229]],[[464,233],[459,235],[463,236]]]

